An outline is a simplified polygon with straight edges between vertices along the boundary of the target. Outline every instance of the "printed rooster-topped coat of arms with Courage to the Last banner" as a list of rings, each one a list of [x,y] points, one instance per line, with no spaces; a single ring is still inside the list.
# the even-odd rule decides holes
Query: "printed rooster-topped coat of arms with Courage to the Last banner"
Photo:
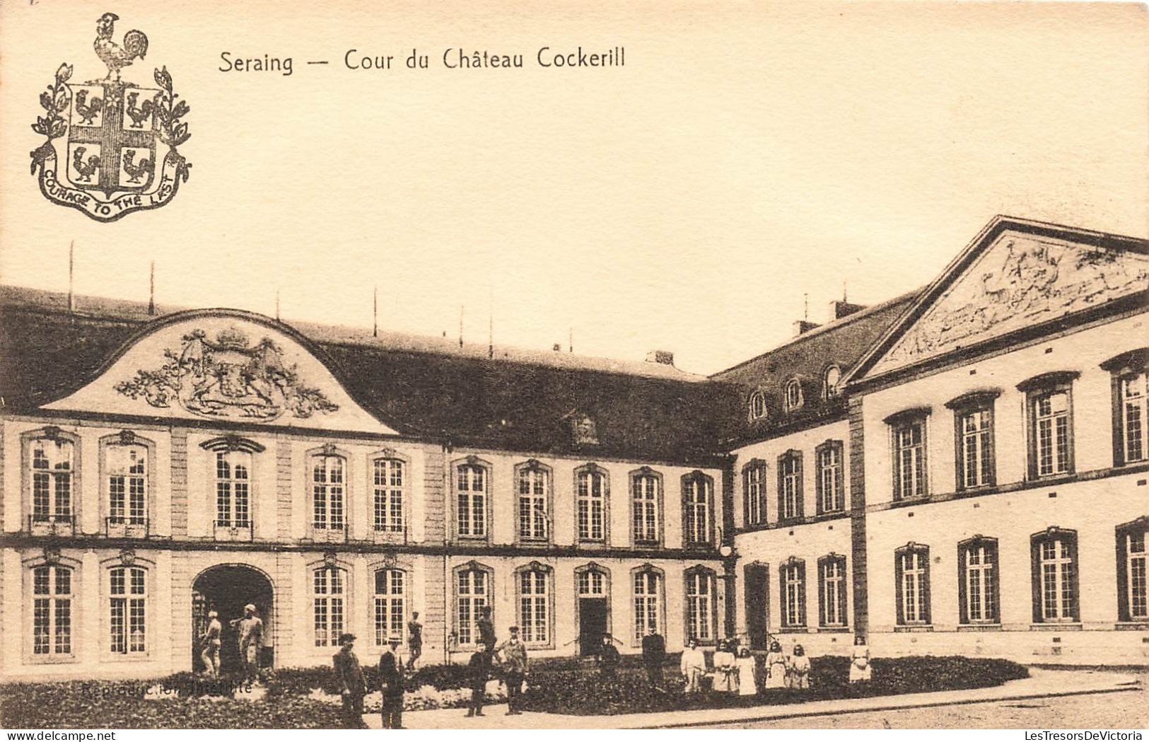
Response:
[[[164,206],[192,167],[178,152],[191,137],[183,121],[191,108],[172,90],[167,67],[155,70],[155,87],[121,79],[123,68],[147,54],[147,37],[132,30],[117,44],[113,28],[118,20],[105,13],[95,22],[92,46],[108,76],[76,83],[72,67],[61,64],[40,93],[44,114],[32,124],[46,137],[31,152],[40,192],[98,222]]]

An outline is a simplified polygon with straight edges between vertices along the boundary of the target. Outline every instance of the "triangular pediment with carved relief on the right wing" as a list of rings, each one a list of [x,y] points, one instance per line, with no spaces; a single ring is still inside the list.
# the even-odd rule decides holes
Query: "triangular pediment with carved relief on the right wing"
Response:
[[[1149,289],[1146,242],[995,219],[866,354],[872,378]]]

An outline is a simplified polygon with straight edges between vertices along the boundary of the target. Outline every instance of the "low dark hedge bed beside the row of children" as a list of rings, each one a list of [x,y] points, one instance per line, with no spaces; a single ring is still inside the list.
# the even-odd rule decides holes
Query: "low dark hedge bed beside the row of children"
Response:
[[[761,664],[759,659],[759,679]],[[759,688],[757,694],[748,696],[714,690],[686,694],[677,667],[664,673],[661,688],[651,688],[646,673],[631,667],[620,668],[614,677],[577,670],[532,672],[524,708],[573,714],[723,709],[984,688],[1030,675],[1023,665],[1005,659],[899,657],[874,659],[873,679],[851,685],[849,664],[848,657],[812,657],[809,689]]]

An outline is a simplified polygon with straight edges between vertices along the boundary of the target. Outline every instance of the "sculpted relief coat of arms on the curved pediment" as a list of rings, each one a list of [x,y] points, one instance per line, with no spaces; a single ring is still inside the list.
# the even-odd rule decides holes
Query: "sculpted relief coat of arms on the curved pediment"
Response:
[[[319,389],[304,386],[295,365],[284,362],[283,350],[263,338],[254,346],[232,327],[208,338],[202,330],[183,337],[182,348],[164,350],[161,368],[139,370],[121,381],[116,391],[148,404],[172,403],[193,415],[213,418],[273,420],[284,413],[308,418],[334,412],[339,405]]]

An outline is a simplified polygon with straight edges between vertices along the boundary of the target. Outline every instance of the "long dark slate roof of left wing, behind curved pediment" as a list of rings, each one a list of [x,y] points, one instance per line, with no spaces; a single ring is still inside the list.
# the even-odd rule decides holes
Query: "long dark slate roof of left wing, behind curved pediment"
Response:
[[[3,410],[30,411],[78,389],[157,319],[132,302],[78,297],[76,306],[69,312],[61,294],[0,287]],[[168,309],[159,308],[162,314]],[[570,356],[554,363],[501,353],[487,358],[437,349],[445,343],[282,326],[309,340],[364,409],[412,436],[587,458],[702,463],[717,453],[724,422],[739,413],[728,385],[655,368],[661,364],[649,364],[647,373],[637,372],[647,366],[620,372],[602,360],[580,366]],[[573,443],[576,413],[595,420],[599,445]]]

